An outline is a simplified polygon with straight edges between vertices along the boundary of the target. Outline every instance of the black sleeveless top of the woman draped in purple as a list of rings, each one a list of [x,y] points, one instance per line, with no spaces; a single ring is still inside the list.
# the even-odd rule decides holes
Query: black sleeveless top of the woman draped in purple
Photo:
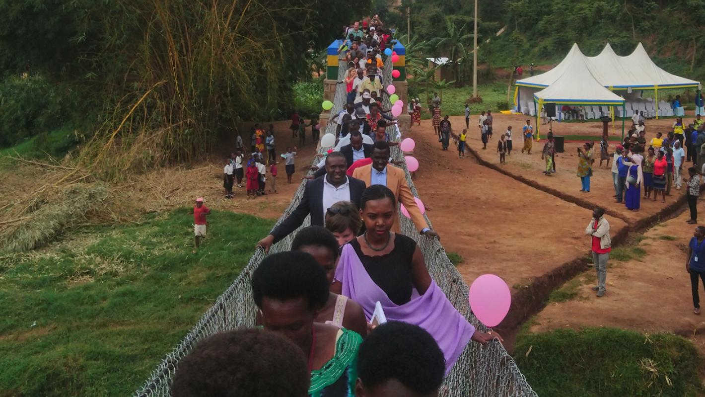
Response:
[[[370,279],[387,294],[396,305],[403,305],[411,300],[414,283],[411,276],[411,259],[416,250],[416,242],[397,233],[394,237],[394,249],[385,255],[370,257],[364,255],[357,238],[350,242],[357,257],[369,274]]]

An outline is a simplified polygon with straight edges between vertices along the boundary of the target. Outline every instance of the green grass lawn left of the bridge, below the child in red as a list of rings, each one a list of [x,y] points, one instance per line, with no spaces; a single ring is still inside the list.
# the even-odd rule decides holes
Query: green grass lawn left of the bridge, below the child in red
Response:
[[[189,209],[0,254],[0,396],[128,396],[226,290],[272,221]]]

